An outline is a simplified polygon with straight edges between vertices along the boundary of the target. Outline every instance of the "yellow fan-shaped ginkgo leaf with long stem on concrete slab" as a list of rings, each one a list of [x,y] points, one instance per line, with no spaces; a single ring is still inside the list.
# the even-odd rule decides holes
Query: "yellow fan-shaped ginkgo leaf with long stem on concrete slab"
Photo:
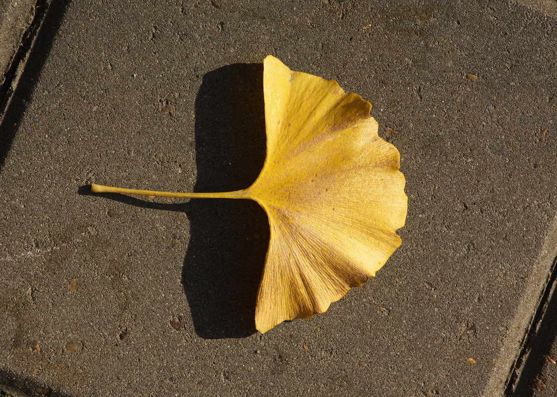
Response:
[[[92,192],[259,203],[270,224],[256,302],[261,333],[324,312],[375,276],[400,246],[395,231],[407,213],[400,155],[379,138],[372,105],[275,57],[263,65],[267,156],[251,187],[170,193],[91,186]]]

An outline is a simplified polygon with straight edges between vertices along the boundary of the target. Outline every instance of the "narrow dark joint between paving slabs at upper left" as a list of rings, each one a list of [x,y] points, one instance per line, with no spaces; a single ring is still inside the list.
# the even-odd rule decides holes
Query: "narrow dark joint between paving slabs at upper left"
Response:
[[[33,47],[33,43],[35,43],[37,33],[45,19],[49,5],[47,0],[37,0],[35,3],[35,7],[33,8],[33,20],[27,27],[25,33],[23,33],[17,51],[4,75],[4,82],[0,85],[0,120],[3,119],[13,92],[16,90],[19,77],[25,68],[28,55]]]

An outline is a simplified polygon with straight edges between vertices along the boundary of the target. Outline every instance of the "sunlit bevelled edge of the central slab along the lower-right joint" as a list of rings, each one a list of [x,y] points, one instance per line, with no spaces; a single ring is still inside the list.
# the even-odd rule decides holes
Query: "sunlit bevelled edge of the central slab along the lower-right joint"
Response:
[[[555,276],[557,257],[557,217],[551,221],[538,260],[534,265],[534,273],[530,277],[520,297],[516,315],[495,362],[490,379],[483,391],[485,396],[506,396],[520,378],[521,364],[525,362],[526,347],[529,335],[535,331],[540,320],[540,310],[544,306],[552,279]],[[541,313],[543,314],[543,313]]]

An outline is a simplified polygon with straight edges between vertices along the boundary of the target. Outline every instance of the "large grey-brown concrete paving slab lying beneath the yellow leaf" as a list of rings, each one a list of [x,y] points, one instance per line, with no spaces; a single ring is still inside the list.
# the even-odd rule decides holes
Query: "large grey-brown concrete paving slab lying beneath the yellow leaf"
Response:
[[[548,277],[540,258],[555,256],[542,252],[557,208],[554,19],[506,0],[74,1],[53,2],[38,34],[0,130],[3,383],[502,394]],[[247,187],[265,156],[268,54],[372,102],[409,211],[376,278],[259,335],[255,203],[82,187]]]

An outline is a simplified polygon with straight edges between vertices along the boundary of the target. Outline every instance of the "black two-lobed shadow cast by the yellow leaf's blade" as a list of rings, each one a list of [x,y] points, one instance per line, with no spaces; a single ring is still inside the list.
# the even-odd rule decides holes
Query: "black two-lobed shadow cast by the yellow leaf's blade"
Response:
[[[263,65],[228,65],[203,76],[196,99],[195,192],[249,187],[265,161]],[[207,339],[255,331],[268,221],[251,200],[191,200],[182,284],[194,327]]]

